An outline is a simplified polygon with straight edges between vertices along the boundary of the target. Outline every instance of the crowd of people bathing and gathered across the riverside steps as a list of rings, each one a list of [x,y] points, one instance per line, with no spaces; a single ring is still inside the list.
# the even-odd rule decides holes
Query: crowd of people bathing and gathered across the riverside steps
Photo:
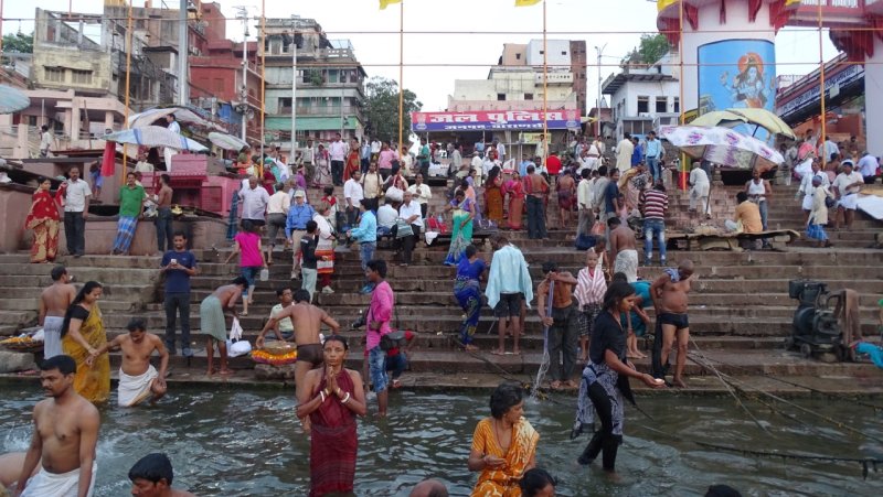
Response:
[[[339,136],[337,138],[327,149],[321,143],[312,148],[312,141],[308,141],[309,150],[297,152],[297,168],[294,169],[285,164],[278,150],[270,149],[264,161],[254,160],[247,150],[240,154],[236,168],[247,176],[234,194],[235,207],[231,210],[228,229],[233,251],[226,262],[238,256],[241,275],[215,289],[200,303],[200,333],[206,339],[206,374],[232,375],[226,350],[230,318],[248,314],[257,281],[264,279],[262,272],[275,263],[277,244],[291,248],[291,280],[297,284],[276,290],[279,303],[270,311],[256,346],[264,346],[272,337],[297,344],[297,417],[305,432],[310,434],[310,495],[353,490],[357,420],[369,412],[366,390],[375,392],[377,414],[386,415],[389,390],[396,386],[405,370],[408,346],[414,339],[413,334],[405,335],[401,343],[390,339],[395,327],[395,292],[386,280],[387,261],[375,256],[377,241],[391,238],[401,252],[400,264],[406,267],[413,263],[421,234],[438,214],[429,207],[433,192],[424,183],[436,148],[429,149],[423,140],[419,153],[411,156],[407,148],[402,148],[400,153],[396,145],[379,142],[375,151],[373,142],[360,144],[351,140],[344,143]],[[652,134],[646,142],[627,137],[617,145],[616,163],[608,169],[602,160],[603,141],[589,143],[581,139],[561,156],[554,151],[545,156],[545,149],[542,155],[538,151],[532,160],[525,155],[511,171],[503,169],[506,148],[502,143],[494,141],[482,149],[478,151],[476,147],[478,162],[475,158],[471,162],[464,161],[458,145],[447,150],[449,158],[459,154],[462,161],[460,166],[453,168],[457,180],[445,202],[445,210],[451,219],[445,263],[456,268],[453,294],[464,311],[458,334],[460,346],[470,353],[480,352],[474,336],[481,309],[487,304],[498,320],[498,344],[490,353],[519,355],[528,312],[535,309],[549,354],[549,388],[578,390],[574,436],[594,425],[596,418],[600,423],[600,430],[594,432],[578,462],[588,465],[600,455],[603,468],[614,472],[624,434],[625,403],[634,402],[628,379],[634,378],[650,388],[667,385],[687,388],[688,295],[694,279],[693,264],[681,261],[678,268],[661,270],[653,281],[642,281],[637,275],[639,253],[632,227],[636,218],[641,220],[646,241],[643,263],[652,263],[656,241],[659,263],[667,264],[668,196],[662,181],[662,148]],[[514,161],[510,159],[508,163],[511,165]],[[839,166],[842,171],[830,183],[833,196],[839,199],[838,210],[849,226],[852,218],[847,216],[850,210],[847,197],[860,183],[849,161],[840,162]],[[813,163],[812,169],[818,172],[819,164]],[[825,224],[821,220],[827,220],[826,209],[831,208],[826,202],[828,193],[823,180],[813,174],[807,188],[804,188],[804,177],[800,180],[799,193],[811,198],[809,204],[804,203],[805,208],[810,206],[808,229],[819,229]],[[39,228],[45,235],[41,240],[52,238],[54,222],[57,237],[61,220],[57,201],[62,199],[64,220],[70,220],[73,227],[67,230],[72,255],[82,255],[83,244],[77,239],[82,238],[82,229],[77,231],[76,226],[82,226],[86,218],[91,195],[88,186],[85,190],[78,186],[81,181],[78,170],[73,169],[65,190],[55,198],[49,194],[51,184],[41,183],[28,220],[35,231]],[[168,183],[164,177],[161,191],[153,198],[160,205],[162,219],[167,218],[162,213],[171,201]],[[699,213],[708,215],[709,174],[699,163],[690,174],[690,184],[691,210],[699,216],[702,215]],[[342,186],[342,201],[337,198],[334,186]],[[308,188],[319,188],[323,196],[311,204],[307,198]],[[483,195],[479,196],[478,192]],[[542,279],[532,281],[523,252],[501,231],[491,239],[490,262],[481,258],[474,245],[474,235],[483,227],[522,229],[526,217],[529,238],[547,238],[551,192],[556,193],[557,205],[553,209],[557,209],[558,227],[575,228],[577,248],[586,251],[585,267],[577,274],[546,262],[542,267]],[[747,233],[766,230],[765,214],[770,193],[769,183],[755,173],[745,191],[738,194],[733,223]],[[128,251],[146,197],[136,174],[130,173],[120,192],[115,253]],[[572,227],[573,215],[576,222]],[[109,398],[109,350],[123,352],[117,395],[121,407],[162,398],[167,390],[169,357],[178,353],[179,345],[183,356],[193,355],[190,279],[199,273],[199,268],[195,256],[185,248],[187,236],[169,233],[170,227],[170,223],[158,219],[158,240],[163,251],[160,270],[166,277],[164,337],[149,333],[145,322],[136,318],[128,324],[126,334],[108,341],[98,306],[103,285],[89,281],[75,291],[67,271],[63,267],[53,269],[53,284],[43,293],[40,309],[40,321],[46,334],[43,382],[50,383],[50,389],[55,389],[53,392],[57,390],[57,395],[51,395],[52,409],[58,402],[70,403],[82,412],[78,422],[97,420],[97,411],[91,411],[87,406]],[[284,233],[281,244],[280,233]],[[351,344],[338,334],[338,322],[313,304],[317,287],[323,293],[334,292],[331,288],[333,248],[343,241],[358,244],[364,272],[361,292],[371,294],[361,323],[365,327],[362,371],[344,367]],[[36,249],[35,244],[34,253],[38,259],[42,258],[40,261],[53,260],[50,245],[41,241]],[[240,300],[242,312],[238,311]],[[655,324],[645,312],[650,306],[656,310]],[[329,331],[327,336],[320,334],[323,326]],[[650,334],[651,327],[651,372],[642,374],[637,371],[631,359],[643,356],[638,349],[638,338]],[[220,354],[219,368],[214,367],[215,349]],[[675,361],[669,382],[672,353]],[[158,368],[150,364],[152,355],[159,357]],[[470,471],[479,473],[472,495],[554,495],[555,478],[535,467],[540,433],[524,417],[523,408],[522,390],[517,386],[503,383],[491,395],[491,415],[476,426],[466,463]],[[38,409],[49,408],[38,406]],[[94,436],[97,436],[97,424],[96,421],[92,426]],[[36,429],[39,432],[39,426]],[[94,440],[86,442],[94,444]],[[29,450],[21,475],[35,471],[39,450],[33,445]],[[151,464],[159,464],[158,461]],[[45,466],[42,471],[68,472],[76,478],[78,488],[87,490],[94,482],[88,471],[93,463],[94,447],[91,458],[78,455],[71,464],[58,467],[58,472]],[[164,485],[166,488],[170,488],[172,479],[170,472],[155,479],[145,478],[143,473],[138,472],[130,477],[136,486]],[[426,482],[412,495],[424,495],[418,494],[422,489],[426,489],[425,495],[444,495],[438,493],[442,491],[437,488],[439,485]]]

